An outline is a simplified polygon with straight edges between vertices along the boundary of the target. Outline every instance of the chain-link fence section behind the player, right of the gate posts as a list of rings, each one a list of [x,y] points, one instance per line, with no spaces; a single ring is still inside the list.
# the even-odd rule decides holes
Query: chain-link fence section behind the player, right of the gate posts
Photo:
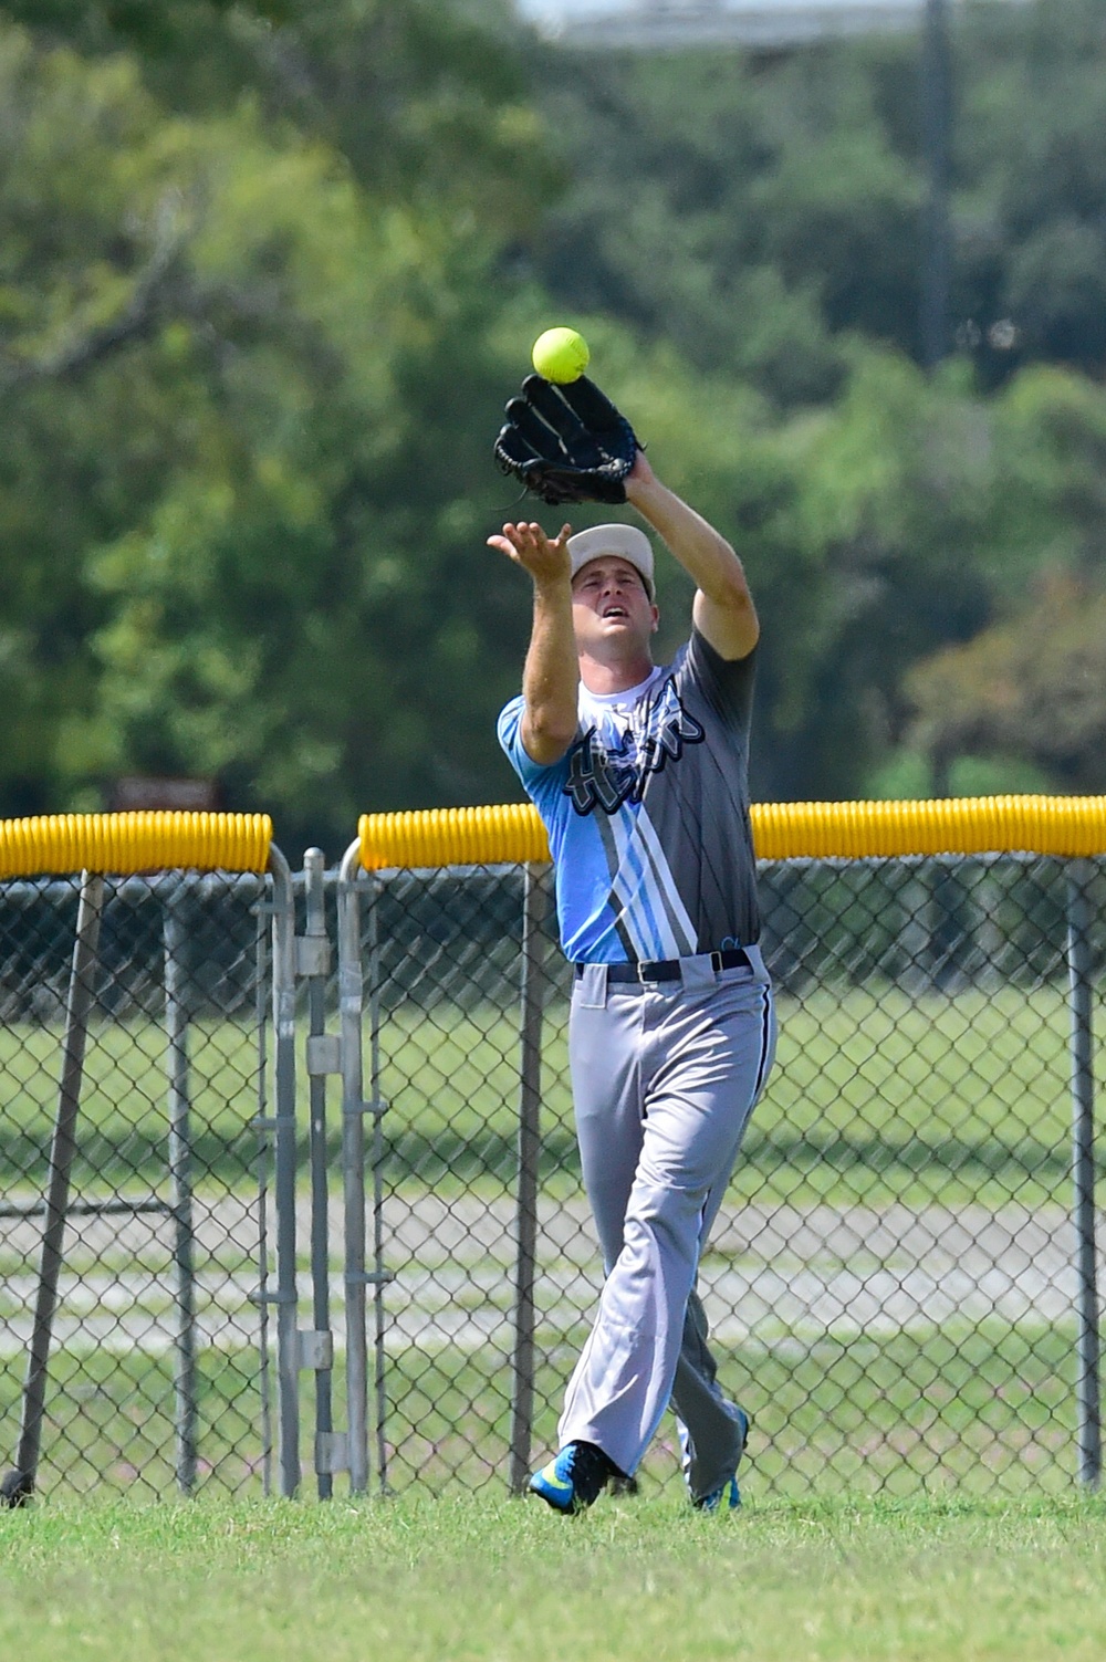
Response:
[[[388,1102],[378,1478],[519,1487],[600,1288],[549,876],[359,881]],[[1103,864],[778,861],[760,891],[778,1055],[700,1270],[753,1421],[743,1489],[1096,1481]],[[639,1476],[680,1481],[674,1423]]]

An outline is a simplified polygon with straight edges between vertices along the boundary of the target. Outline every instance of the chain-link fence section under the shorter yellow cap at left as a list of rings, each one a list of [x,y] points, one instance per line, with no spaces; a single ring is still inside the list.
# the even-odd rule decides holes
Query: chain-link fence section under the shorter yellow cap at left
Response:
[[[0,883],[8,1499],[271,1481],[271,914],[256,873]]]

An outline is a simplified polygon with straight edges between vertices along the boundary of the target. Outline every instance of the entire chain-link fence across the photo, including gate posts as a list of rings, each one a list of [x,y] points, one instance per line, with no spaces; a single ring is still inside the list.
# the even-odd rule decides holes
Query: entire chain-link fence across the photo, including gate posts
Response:
[[[43,1491],[519,1489],[552,1448],[600,1256],[527,861],[313,853],[294,941],[291,879],[283,932],[256,873],[0,883],[0,1441],[37,1401]],[[743,1489],[1094,1483],[1106,863],[760,892],[780,1044],[700,1266]]]

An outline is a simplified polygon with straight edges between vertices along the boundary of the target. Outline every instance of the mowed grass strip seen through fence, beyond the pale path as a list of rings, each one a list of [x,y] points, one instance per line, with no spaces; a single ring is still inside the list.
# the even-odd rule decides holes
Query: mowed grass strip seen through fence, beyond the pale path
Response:
[[[735,1197],[760,1205],[910,1207],[1068,1198],[1069,1010],[1044,984],[911,997],[895,986],[780,997],[780,1045],[750,1125]],[[0,1032],[0,1160],[45,1173],[60,1029]],[[256,1157],[256,1034],[191,1032],[196,1172],[241,1185]],[[404,1004],[384,1015],[386,1180],[459,1188],[511,1182],[517,1158],[517,1012]],[[1099,1087],[1106,1084],[1099,1047]],[[166,1045],[155,1020],[95,1025],[75,1180],[158,1182],[166,1158]],[[338,1087],[333,1087],[338,1137]],[[546,1015],[544,1183],[579,1183],[565,1007]]]

